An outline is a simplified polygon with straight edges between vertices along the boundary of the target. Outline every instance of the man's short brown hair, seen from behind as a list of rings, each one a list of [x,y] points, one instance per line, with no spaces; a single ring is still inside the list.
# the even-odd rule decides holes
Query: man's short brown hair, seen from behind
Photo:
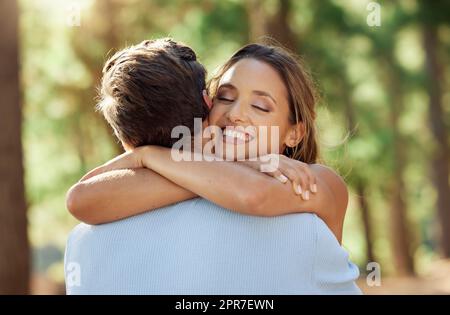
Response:
[[[106,62],[97,108],[123,143],[171,147],[174,127],[193,133],[194,118],[207,117],[205,79],[188,46],[168,38],[146,40]]]

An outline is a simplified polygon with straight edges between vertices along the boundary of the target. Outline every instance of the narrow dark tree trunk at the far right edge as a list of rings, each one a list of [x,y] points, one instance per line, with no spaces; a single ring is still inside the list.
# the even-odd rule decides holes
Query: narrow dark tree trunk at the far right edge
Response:
[[[428,75],[427,92],[429,96],[429,120],[436,145],[433,150],[431,169],[433,183],[437,191],[437,209],[441,223],[441,247],[445,257],[450,258],[450,185],[449,161],[450,150],[447,139],[447,128],[442,108],[443,76],[438,62],[438,38],[434,25],[425,25],[424,48],[426,55],[426,71]]]

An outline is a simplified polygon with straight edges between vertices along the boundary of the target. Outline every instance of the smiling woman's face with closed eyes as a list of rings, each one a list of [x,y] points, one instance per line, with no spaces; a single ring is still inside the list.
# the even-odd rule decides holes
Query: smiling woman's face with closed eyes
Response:
[[[244,150],[248,159],[263,153],[281,153],[287,144],[292,146],[293,137],[298,133],[289,122],[289,116],[288,93],[279,74],[267,63],[247,58],[238,61],[222,76],[209,114],[209,125],[222,129],[224,154],[231,149],[233,159],[244,158],[236,153]],[[266,127],[267,133],[260,127]],[[278,134],[274,128],[278,129]],[[262,143],[267,143],[267,152],[260,151]],[[250,152],[250,147],[255,145],[257,152]],[[226,157],[228,159],[229,155]]]

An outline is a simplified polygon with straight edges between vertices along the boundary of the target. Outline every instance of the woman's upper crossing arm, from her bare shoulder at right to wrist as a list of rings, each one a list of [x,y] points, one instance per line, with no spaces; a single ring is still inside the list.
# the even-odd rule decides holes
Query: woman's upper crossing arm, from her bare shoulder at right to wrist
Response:
[[[143,166],[225,208],[259,216],[316,213],[339,241],[342,238],[348,192],[344,181],[327,167],[311,166],[317,192],[303,200],[292,192],[291,185],[281,184],[240,163],[175,161],[170,149],[156,146],[138,148],[133,154]]]

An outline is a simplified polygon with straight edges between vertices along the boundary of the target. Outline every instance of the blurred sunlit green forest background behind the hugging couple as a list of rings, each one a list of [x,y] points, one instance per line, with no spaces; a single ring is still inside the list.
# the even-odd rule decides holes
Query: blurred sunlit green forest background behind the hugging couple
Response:
[[[236,49],[270,35],[304,58],[319,86],[321,153],[350,188],[343,244],[360,267],[360,286],[450,294],[448,1],[0,2],[1,59],[18,45],[21,91],[17,103],[0,100],[2,124],[17,119],[8,130],[0,125],[0,293],[64,294],[64,247],[77,224],[65,193],[121,152],[94,111],[111,52],[170,36],[193,47],[212,74]],[[14,16],[19,28],[8,36]],[[19,102],[21,122],[6,110]],[[20,130],[22,143],[11,144]],[[11,145],[23,148],[23,174],[8,163]],[[24,207],[5,197],[20,192],[11,178],[22,176],[29,250],[11,225],[25,224],[14,220]],[[29,276],[20,263],[27,252]],[[380,287],[366,283],[368,262],[380,264]]]

